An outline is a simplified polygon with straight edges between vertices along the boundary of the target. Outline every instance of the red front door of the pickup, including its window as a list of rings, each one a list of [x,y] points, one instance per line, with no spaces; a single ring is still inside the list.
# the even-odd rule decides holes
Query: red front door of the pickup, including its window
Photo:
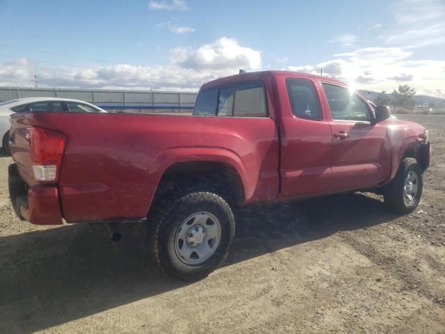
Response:
[[[375,186],[387,180],[391,151],[385,127],[373,123],[369,104],[345,86],[322,83],[332,138],[330,191]]]

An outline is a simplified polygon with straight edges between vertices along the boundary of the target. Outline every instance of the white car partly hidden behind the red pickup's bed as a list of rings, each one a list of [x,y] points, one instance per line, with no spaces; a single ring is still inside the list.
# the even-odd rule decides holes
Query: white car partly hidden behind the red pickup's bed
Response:
[[[57,97],[25,97],[23,99],[0,102],[0,148],[9,152],[9,116],[13,113],[29,111],[106,113],[94,104],[81,100],[61,99]]]

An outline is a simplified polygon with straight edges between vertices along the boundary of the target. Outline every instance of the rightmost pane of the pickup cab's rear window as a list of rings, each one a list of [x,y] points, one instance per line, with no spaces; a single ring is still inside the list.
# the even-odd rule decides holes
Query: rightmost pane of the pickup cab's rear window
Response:
[[[236,85],[234,116],[267,116],[266,97],[261,82],[246,82]]]

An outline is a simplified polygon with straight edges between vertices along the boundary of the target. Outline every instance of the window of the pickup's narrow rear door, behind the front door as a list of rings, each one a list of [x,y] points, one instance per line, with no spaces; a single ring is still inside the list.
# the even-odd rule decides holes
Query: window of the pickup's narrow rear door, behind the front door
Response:
[[[314,85],[307,79],[286,79],[292,113],[298,118],[321,120],[321,108]]]

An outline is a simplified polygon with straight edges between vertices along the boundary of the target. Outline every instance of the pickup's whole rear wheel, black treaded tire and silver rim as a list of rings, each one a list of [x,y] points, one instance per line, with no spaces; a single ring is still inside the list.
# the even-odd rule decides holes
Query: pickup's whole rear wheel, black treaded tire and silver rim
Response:
[[[162,271],[198,280],[225,260],[235,232],[232,209],[210,192],[189,193],[157,210],[150,233],[152,256]]]

